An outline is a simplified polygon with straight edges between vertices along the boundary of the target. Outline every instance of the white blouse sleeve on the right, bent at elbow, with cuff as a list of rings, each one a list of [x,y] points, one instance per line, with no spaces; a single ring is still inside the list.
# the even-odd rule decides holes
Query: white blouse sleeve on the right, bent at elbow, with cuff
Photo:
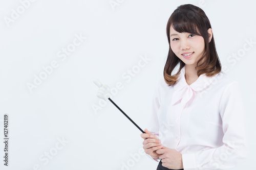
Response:
[[[247,157],[245,112],[237,82],[230,83],[224,90],[219,113],[222,118],[224,144],[219,148],[182,154],[184,170],[231,168]]]

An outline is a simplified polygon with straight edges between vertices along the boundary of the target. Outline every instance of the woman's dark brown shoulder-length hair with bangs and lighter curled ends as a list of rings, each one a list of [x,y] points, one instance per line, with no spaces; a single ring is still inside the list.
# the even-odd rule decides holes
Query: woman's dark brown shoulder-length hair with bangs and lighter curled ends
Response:
[[[209,42],[208,29],[211,28],[211,25],[208,17],[199,7],[191,4],[181,5],[172,13],[172,15],[170,15],[166,28],[169,52],[164,66],[163,76],[165,82],[169,86],[173,85],[177,81],[180,71],[185,65],[185,63],[174,54],[170,47],[171,26],[179,33],[187,32],[200,35],[204,38],[205,51],[196,66],[198,77],[202,74],[205,74],[207,77],[211,77],[221,72],[221,62],[216,51],[213,35]],[[203,62],[198,65],[201,61]],[[173,70],[178,66],[178,64],[180,66],[179,70],[172,75]]]

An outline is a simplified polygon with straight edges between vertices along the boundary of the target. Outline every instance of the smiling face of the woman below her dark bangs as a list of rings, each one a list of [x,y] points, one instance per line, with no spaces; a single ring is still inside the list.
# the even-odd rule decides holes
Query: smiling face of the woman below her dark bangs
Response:
[[[196,67],[204,53],[204,38],[191,33],[179,33],[171,26],[170,48],[186,65]]]

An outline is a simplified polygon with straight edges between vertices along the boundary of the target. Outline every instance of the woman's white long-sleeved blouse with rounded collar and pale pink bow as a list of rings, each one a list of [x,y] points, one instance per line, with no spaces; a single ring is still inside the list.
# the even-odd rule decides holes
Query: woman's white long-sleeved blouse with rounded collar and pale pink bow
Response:
[[[147,129],[182,154],[184,170],[226,169],[247,156],[245,126],[236,81],[220,72],[188,85],[184,66],[174,85],[158,82]]]

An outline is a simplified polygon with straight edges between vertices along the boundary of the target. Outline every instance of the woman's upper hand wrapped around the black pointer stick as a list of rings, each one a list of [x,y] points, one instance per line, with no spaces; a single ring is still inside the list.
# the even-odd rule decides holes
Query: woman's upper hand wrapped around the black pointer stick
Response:
[[[150,131],[145,129],[145,133],[142,133],[140,136],[144,139],[143,149],[146,154],[150,155],[154,159],[159,158],[159,154],[156,153],[157,150],[163,148],[161,140],[157,136],[153,135]]]

